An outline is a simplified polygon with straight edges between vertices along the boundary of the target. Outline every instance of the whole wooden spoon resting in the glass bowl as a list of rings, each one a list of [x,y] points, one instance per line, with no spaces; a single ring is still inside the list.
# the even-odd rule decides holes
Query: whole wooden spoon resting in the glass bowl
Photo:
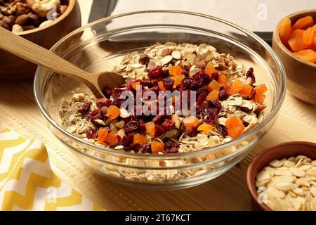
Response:
[[[29,62],[41,65],[49,70],[53,70],[54,72],[67,75],[68,77],[83,82],[96,98],[104,97],[102,90],[106,86],[114,89],[114,87],[121,86],[121,84],[125,83],[124,78],[117,72],[86,72],[60,56],[57,56],[55,53],[31,41],[27,41],[27,39],[13,34],[2,27],[0,27],[0,49],[8,51]],[[12,68],[14,70],[14,65],[12,65]]]

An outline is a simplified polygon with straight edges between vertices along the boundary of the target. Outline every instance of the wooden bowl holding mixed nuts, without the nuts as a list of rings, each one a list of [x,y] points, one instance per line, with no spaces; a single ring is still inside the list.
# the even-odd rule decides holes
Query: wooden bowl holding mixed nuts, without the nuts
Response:
[[[60,17],[44,27],[21,32],[19,35],[45,49],[51,47],[66,34],[81,27],[81,13],[76,0],[68,0],[68,8]],[[0,50],[0,80],[30,79],[37,65]]]

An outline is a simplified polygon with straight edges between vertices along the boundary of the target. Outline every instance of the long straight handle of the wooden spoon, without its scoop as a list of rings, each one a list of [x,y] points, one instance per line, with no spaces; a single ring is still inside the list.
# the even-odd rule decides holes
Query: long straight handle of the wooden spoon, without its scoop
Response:
[[[85,84],[91,83],[88,80],[91,80],[92,77],[88,72],[77,68],[77,66],[57,56],[55,53],[13,34],[2,27],[0,27],[0,49],[62,75],[79,79]]]

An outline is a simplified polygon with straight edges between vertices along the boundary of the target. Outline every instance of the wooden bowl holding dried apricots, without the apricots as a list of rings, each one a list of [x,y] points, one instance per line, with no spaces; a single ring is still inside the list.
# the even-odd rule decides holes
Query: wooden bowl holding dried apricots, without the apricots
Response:
[[[296,20],[306,15],[311,15],[316,21],[316,9],[301,11],[287,17],[293,25]],[[298,58],[284,46],[281,39],[279,39],[279,26],[280,23],[277,25],[275,32],[273,32],[272,48],[282,60],[287,72],[287,88],[296,98],[316,105],[316,64]]]

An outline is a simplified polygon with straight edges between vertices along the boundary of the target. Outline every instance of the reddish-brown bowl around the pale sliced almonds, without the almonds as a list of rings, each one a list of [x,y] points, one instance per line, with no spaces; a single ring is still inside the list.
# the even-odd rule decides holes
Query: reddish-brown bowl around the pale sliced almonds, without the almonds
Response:
[[[253,210],[261,209],[264,211],[271,211],[271,209],[264,203],[258,202],[258,194],[255,186],[255,180],[258,172],[268,166],[272,160],[281,160],[282,158],[290,158],[291,156],[305,155],[312,160],[316,159],[316,143],[305,141],[293,141],[286,143],[279,143],[275,146],[261,150],[258,155],[250,163],[247,174],[247,187],[254,206]]]

